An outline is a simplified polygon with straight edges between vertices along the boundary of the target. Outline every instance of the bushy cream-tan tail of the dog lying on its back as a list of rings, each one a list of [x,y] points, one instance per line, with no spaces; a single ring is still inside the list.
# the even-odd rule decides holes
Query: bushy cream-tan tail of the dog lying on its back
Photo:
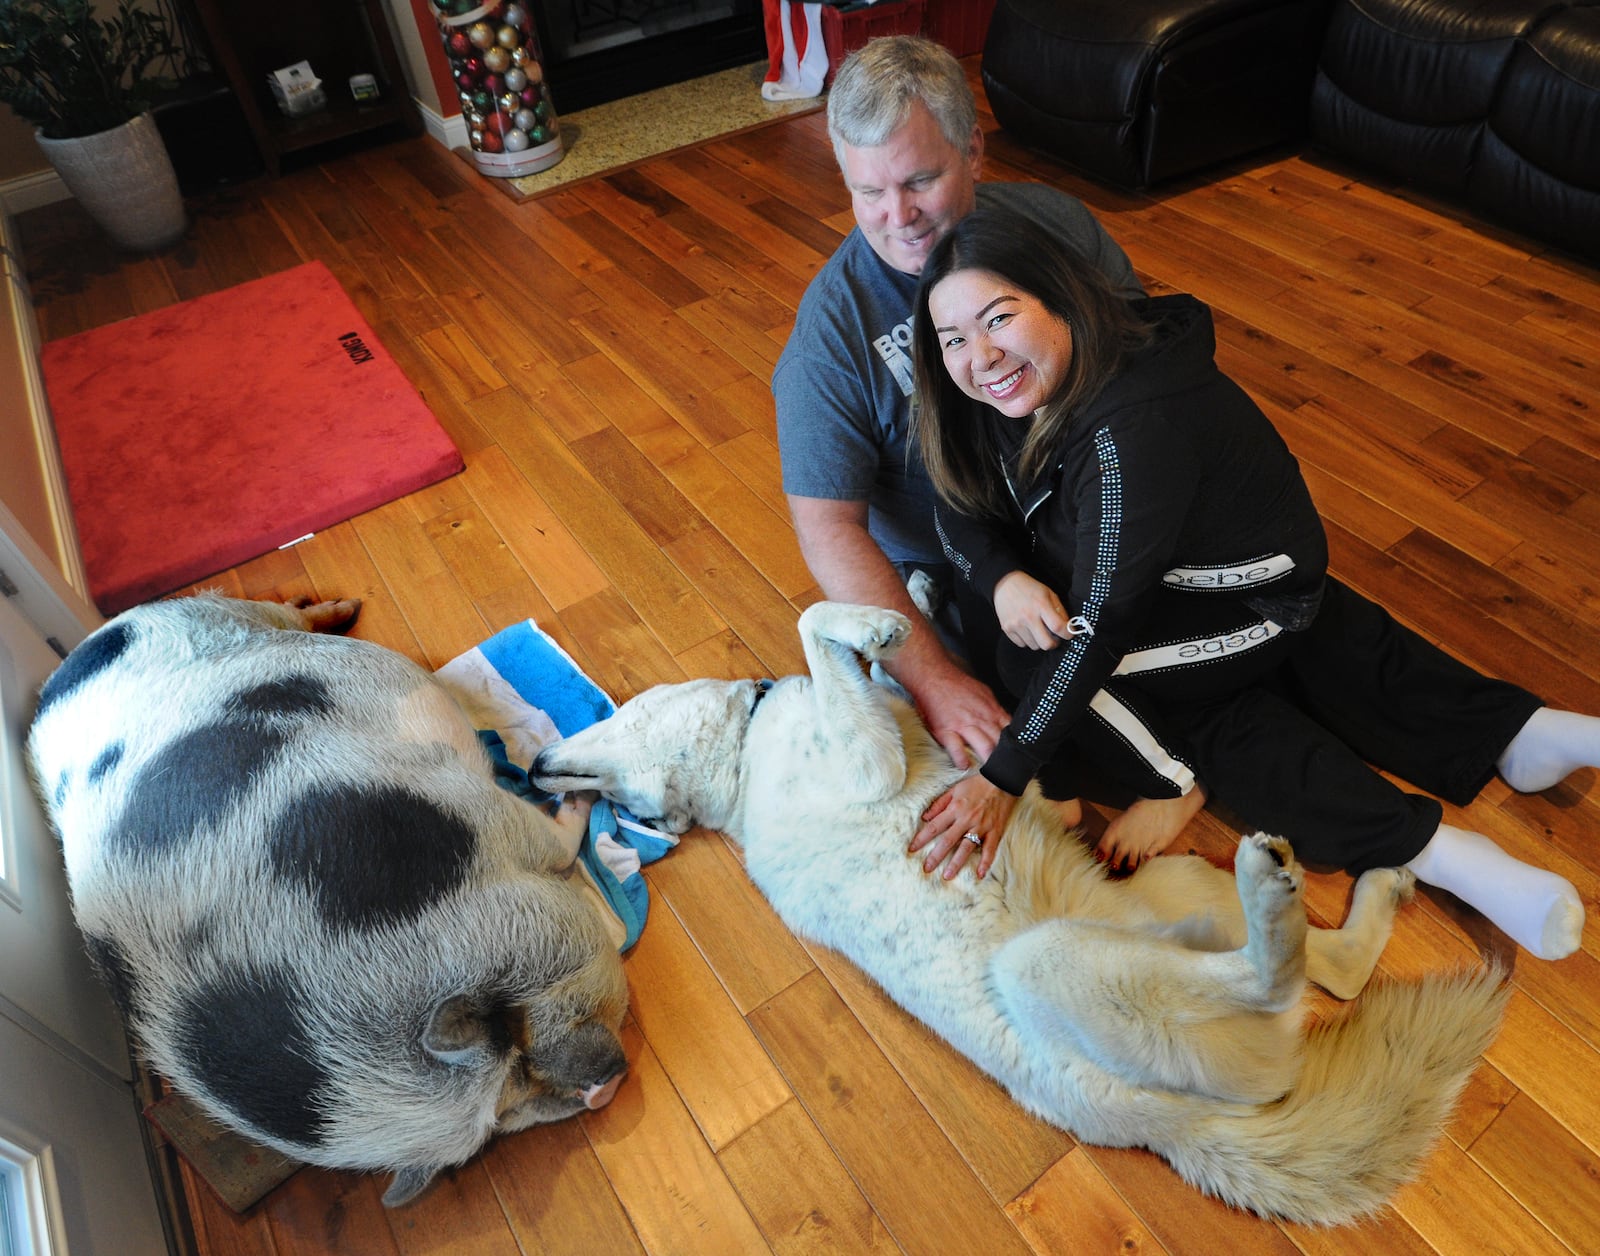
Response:
[[[1509,994],[1496,968],[1373,982],[1349,1014],[1312,1029],[1286,1096],[1195,1101],[1157,1150],[1186,1181],[1256,1213],[1314,1226],[1374,1213],[1416,1176]]]

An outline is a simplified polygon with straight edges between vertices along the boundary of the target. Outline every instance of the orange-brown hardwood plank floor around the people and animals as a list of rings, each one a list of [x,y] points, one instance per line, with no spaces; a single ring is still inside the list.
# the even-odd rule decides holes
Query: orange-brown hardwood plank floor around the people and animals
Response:
[[[1213,304],[1221,365],[1301,458],[1338,574],[1600,712],[1600,272],[1314,157],[1128,197],[986,126],[987,178],[1083,197],[1152,290]],[[818,590],[768,378],[850,226],[819,114],[525,205],[430,141],[370,149],[210,197],[154,259],[109,254],[72,206],[21,221],[46,338],[326,262],[462,448],[462,475],[224,589],[360,595],[358,635],[430,667],[531,616],[618,699],[803,667],[794,622]],[[632,1072],[608,1109],[501,1139],[390,1213],[355,1174],[306,1170],[245,1218],[190,1182],[198,1248],[1600,1251],[1600,774],[1446,811],[1571,878],[1590,922],[1578,955],[1541,963],[1445,894],[1403,912],[1387,973],[1493,955],[1515,995],[1421,1181],[1363,1227],[1230,1211],[1146,1152],[1032,1120],[694,832],[648,874]],[[1206,813],[1190,845],[1226,861],[1234,835]],[[1347,893],[1309,878],[1322,920]]]

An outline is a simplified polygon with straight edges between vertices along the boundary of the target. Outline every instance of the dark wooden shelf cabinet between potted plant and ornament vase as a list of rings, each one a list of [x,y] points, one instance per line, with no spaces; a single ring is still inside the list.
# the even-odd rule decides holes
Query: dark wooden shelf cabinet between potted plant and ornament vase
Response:
[[[381,0],[190,3],[272,174],[285,157],[336,139],[378,128],[421,130]],[[328,102],[314,114],[286,117],[269,77],[299,61],[310,62]],[[355,74],[378,80],[376,99],[350,94]]]

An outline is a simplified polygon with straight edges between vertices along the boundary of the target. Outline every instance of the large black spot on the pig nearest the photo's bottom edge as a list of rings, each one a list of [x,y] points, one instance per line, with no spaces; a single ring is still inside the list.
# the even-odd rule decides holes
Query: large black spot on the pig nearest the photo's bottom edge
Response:
[[[219,1102],[285,1142],[322,1142],[331,1078],[285,973],[208,982],[182,1002],[176,1022],[178,1050]]]

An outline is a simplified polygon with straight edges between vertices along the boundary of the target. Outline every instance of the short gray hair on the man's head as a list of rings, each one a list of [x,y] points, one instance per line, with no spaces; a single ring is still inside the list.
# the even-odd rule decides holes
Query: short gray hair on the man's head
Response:
[[[939,131],[966,152],[978,106],[962,62],[949,48],[922,35],[883,35],[850,56],[827,93],[827,134],[843,166],[843,146],[875,149],[922,101]]]

